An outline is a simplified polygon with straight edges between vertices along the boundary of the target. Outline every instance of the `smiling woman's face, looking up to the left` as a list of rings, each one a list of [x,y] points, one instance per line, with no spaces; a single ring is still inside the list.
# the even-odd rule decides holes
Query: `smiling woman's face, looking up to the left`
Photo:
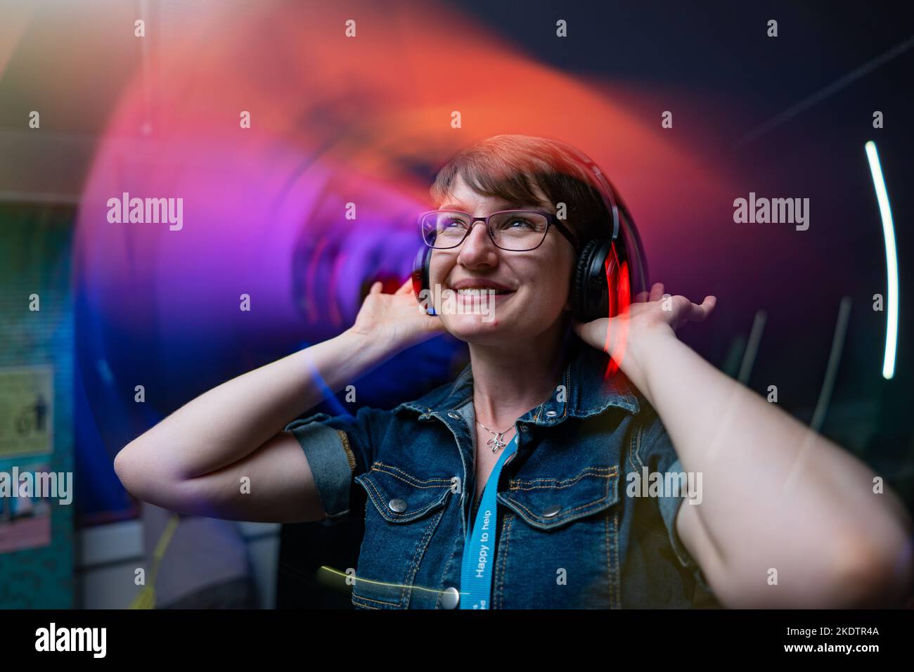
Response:
[[[542,205],[546,197],[537,191]],[[498,197],[482,196],[457,176],[451,193],[440,209],[456,209],[473,217],[485,217],[498,210],[531,208],[533,204],[511,203]],[[505,251],[495,246],[484,222],[476,222],[459,247],[431,253],[430,287],[436,296],[435,308],[444,327],[467,343],[481,345],[523,343],[546,332],[569,309],[569,281],[575,251],[568,240],[550,228],[546,240],[536,250]],[[479,287],[482,296],[459,292]],[[498,293],[490,302],[489,289]],[[481,303],[482,302],[482,303]],[[450,309],[449,309],[450,308]],[[443,309],[443,310],[442,310]]]

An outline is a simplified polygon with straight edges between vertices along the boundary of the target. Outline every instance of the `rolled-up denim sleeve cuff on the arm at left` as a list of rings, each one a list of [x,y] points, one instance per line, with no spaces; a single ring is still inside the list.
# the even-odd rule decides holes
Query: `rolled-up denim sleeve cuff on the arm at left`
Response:
[[[314,485],[324,506],[321,522],[333,525],[349,516],[356,475],[374,462],[377,442],[387,426],[390,411],[363,407],[356,415],[317,413],[286,425],[286,432],[302,446]]]

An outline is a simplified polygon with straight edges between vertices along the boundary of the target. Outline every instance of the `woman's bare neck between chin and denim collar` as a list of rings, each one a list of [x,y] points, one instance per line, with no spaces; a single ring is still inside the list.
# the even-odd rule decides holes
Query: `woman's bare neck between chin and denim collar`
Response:
[[[476,418],[497,432],[552,396],[564,370],[567,325],[507,345],[470,344]]]

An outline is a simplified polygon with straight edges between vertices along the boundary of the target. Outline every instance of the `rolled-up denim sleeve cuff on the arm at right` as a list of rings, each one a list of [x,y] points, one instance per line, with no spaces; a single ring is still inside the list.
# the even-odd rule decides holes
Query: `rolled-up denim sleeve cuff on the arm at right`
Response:
[[[637,453],[642,464],[648,465],[651,471],[658,472],[665,482],[667,475],[682,473],[683,466],[675,452],[673,442],[666,432],[663,421],[656,415],[656,411],[653,411],[653,415],[650,417],[651,420],[648,422],[648,426],[643,428]],[[687,478],[687,475],[685,477]],[[679,507],[683,506],[687,495],[686,488],[680,490],[678,495],[663,493],[662,496],[656,498],[657,506],[660,508],[660,516],[664,519],[670,546],[673,547],[673,552],[676,559],[679,560],[679,564],[695,577],[704,591],[713,592],[701,567],[688,549],[685,548],[685,544],[683,544],[682,539],[679,539],[679,534],[676,532],[676,514],[679,513]],[[696,505],[688,504],[687,506]]]

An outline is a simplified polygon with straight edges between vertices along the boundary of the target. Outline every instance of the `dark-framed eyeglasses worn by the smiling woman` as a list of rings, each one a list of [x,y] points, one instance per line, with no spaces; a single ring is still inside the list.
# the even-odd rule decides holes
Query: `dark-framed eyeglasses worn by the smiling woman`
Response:
[[[422,240],[430,248],[447,250],[460,245],[470,235],[473,224],[484,221],[495,246],[507,251],[536,250],[554,226],[578,249],[574,234],[551,212],[541,210],[500,210],[488,217],[473,217],[460,210],[428,210],[419,216]]]

